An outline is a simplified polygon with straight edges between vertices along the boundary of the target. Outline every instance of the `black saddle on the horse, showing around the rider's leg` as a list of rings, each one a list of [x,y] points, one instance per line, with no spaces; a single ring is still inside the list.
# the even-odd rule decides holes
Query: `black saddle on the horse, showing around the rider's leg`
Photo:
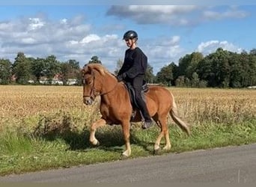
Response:
[[[134,88],[132,87],[132,85],[129,82],[124,82],[124,85],[125,85],[125,88],[127,88],[127,91],[129,93],[129,100],[132,104],[132,116],[131,116],[131,120],[132,120],[135,117],[136,108],[139,108],[139,107],[138,107],[138,104],[135,99],[135,91],[134,91]],[[141,95],[142,95],[142,99],[144,99],[144,101],[146,101],[144,93],[147,93],[147,91],[149,91],[147,82],[143,81]],[[141,117],[142,117],[142,115],[141,115]]]

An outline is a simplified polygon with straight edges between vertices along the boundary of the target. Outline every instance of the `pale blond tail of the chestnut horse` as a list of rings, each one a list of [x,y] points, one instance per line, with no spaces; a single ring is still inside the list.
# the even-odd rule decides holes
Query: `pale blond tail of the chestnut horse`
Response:
[[[178,126],[180,126],[180,129],[182,129],[184,132],[186,132],[188,135],[190,135],[189,125],[185,123],[183,120],[180,119],[177,112],[177,105],[174,100],[174,95],[171,93],[172,96],[172,108],[170,111],[171,118],[174,120],[175,123],[177,123]]]

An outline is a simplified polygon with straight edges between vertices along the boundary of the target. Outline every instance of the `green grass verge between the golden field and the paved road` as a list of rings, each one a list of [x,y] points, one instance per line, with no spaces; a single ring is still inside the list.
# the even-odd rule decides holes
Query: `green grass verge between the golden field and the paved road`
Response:
[[[255,123],[256,120],[232,125],[201,124],[192,127],[190,137],[171,124],[169,127],[171,152],[180,153],[256,142]],[[153,127],[141,130],[138,126],[134,126],[131,132],[131,158],[153,156],[153,144],[159,129]],[[28,134],[13,134],[13,132],[5,133],[0,138],[0,175],[112,162],[121,159],[121,153],[124,150],[120,126],[101,129],[97,133],[97,138],[101,143],[99,147],[91,147],[88,143],[88,129],[60,134],[55,131],[55,133],[49,132],[49,134],[37,137]]]

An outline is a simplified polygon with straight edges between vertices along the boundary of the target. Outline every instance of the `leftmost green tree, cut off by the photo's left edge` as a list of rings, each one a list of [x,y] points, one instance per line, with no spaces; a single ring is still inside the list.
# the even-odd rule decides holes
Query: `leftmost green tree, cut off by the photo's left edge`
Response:
[[[7,59],[0,59],[0,84],[8,85],[11,77],[11,63]]]

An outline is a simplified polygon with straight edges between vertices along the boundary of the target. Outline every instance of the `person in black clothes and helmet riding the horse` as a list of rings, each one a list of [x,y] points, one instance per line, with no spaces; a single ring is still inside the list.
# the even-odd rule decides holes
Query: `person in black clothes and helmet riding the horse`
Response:
[[[147,56],[137,46],[138,34],[135,31],[127,31],[123,40],[127,43],[129,49],[126,50],[124,56],[124,64],[118,72],[118,82],[129,82],[135,91],[135,100],[138,108],[144,117],[142,128],[147,129],[153,125],[150,114],[147,111],[147,105],[142,99],[141,91],[144,80],[144,74],[147,69]]]

